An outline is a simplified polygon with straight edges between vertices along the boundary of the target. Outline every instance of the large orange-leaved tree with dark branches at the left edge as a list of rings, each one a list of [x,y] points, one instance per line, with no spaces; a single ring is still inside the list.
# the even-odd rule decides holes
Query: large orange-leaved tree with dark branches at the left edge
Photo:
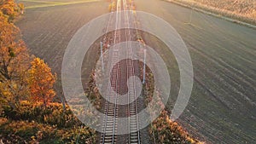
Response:
[[[26,72],[30,65],[20,30],[0,11],[0,102],[16,109],[26,97]],[[0,108],[0,111],[2,108]]]

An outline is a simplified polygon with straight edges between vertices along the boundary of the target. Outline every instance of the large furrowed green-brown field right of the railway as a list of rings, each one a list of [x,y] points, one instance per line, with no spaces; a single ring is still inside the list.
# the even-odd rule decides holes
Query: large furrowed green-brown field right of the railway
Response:
[[[136,5],[171,24],[189,49],[195,83],[189,105],[177,121],[210,143],[256,141],[256,31],[164,1],[138,0]],[[155,43],[160,40],[145,41],[161,55],[168,53],[163,43]],[[173,63],[169,71],[178,76],[172,54],[165,60]],[[178,89],[172,84],[172,93]]]

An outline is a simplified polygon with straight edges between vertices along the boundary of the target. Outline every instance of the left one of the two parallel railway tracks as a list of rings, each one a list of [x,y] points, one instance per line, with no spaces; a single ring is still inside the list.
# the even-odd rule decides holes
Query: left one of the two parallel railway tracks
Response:
[[[119,0],[117,1],[117,11],[119,11]],[[115,27],[116,29],[119,27],[119,14],[116,15],[116,21],[115,21]],[[119,31],[115,31],[113,35],[113,43],[118,43],[119,41]],[[105,118],[103,119],[103,133],[102,133],[102,144],[113,144],[116,143],[117,135],[117,121],[118,121],[118,112],[119,112],[119,106],[118,106],[118,93],[119,93],[119,84],[118,83],[118,69],[119,69],[119,49],[116,47],[113,47],[113,56],[112,56],[112,65],[117,63],[118,66],[112,66],[112,77],[110,79],[110,84],[108,84],[108,101],[105,103]],[[110,89],[115,88],[111,92]],[[116,93],[115,93],[115,92]],[[111,102],[111,101],[114,101]]]

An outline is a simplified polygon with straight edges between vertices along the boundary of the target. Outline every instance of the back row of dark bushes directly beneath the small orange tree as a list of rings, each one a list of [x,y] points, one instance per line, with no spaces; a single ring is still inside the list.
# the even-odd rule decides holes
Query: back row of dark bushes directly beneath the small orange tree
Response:
[[[44,107],[42,102],[21,101],[19,110],[6,107],[2,116],[13,120],[21,119],[52,124],[60,128],[81,124],[79,119],[73,116],[69,107],[64,111],[62,104],[57,102],[49,103],[47,107]]]

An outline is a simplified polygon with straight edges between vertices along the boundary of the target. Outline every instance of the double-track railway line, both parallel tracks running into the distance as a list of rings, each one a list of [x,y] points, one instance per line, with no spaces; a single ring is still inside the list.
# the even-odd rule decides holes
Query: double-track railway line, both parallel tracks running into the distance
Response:
[[[122,8],[124,10],[131,10],[129,5],[126,3],[126,0],[117,0],[116,4],[116,10],[119,12],[121,10],[121,3]],[[115,27],[116,29],[119,29],[121,16],[124,16],[125,18],[125,25],[129,26],[132,25],[132,21],[129,18],[128,12],[123,13],[124,15],[117,14],[116,15],[116,21],[115,21]],[[130,24],[131,23],[131,24]],[[125,29],[125,40],[131,41],[131,30]],[[121,33],[120,31],[115,31],[113,34],[113,44],[120,43],[121,42]],[[113,46],[113,55],[112,55],[112,77],[110,79],[110,83],[108,84],[108,101],[105,103],[105,118],[103,119],[102,124],[102,138],[101,143],[102,144],[114,144],[117,143],[117,125],[118,125],[118,115],[119,115],[119,105],[118,105],[118,94],[120,90],[120,86],[122,83],[121,81],[126,80],[130,76],[135,75],[134,70],[134,61],[132,60],[133,55],[133,49],[131,48],[131,43],[128,44],[128,47],[126,49],[126,56],[128,56],[129,60],[125,60],[125,65],[120,66],[119,65],[119,49]],[[117,66],[113,66],[113,64],[116,64]],[[122,73],[119,73],[119,68],[126,68],[126,78],[120,77]],[[134,78],[134,77],[133,77]],[[131,89],[128,89],[128,101],[129,104],[127,104],[127,113],[128,113],[128,143],[129,144],[140,144],[140,132],[139,132],[139,123],[137,118],[137,97],[136,97],[136,90],[135,90],[135,78],[132,81],[129,81],[129,87]],[[110,90],[113,89],[114,90]],[[115,91],[115,92],[113,92]],[[111,102],[112,101],[112,102]],[[114,101],[114,102],[113,102]]]

